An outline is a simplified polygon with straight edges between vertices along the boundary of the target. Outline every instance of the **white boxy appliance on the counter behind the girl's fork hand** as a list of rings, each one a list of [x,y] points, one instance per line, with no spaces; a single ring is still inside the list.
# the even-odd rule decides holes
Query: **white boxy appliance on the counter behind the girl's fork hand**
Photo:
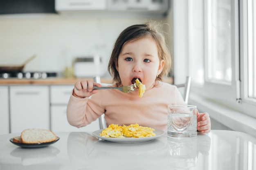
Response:
[[[76,58],[74,62],[74,75],[76,77],[103,76],[106,69],[99,55]]]

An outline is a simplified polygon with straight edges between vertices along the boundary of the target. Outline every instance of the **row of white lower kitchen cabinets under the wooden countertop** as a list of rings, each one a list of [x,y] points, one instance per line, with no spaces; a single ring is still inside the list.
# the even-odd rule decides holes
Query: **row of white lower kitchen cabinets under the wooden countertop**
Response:
[[[81,128],[67,122],[67,103],[73,88],[74,85],[0,86],[0,135],[31,128],[70,132],[99,130],[99,119]]]

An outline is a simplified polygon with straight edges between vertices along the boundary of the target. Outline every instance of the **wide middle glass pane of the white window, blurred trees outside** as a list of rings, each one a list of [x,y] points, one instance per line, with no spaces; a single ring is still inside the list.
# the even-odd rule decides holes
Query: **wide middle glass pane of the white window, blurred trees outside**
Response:
[[[206,79],[230,83],[231,0],[211,0],[206,4]]]

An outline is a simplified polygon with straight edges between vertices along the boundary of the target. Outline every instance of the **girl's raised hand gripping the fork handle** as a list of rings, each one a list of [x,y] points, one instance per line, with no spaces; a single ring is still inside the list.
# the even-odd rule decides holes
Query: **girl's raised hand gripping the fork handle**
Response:
[[[101,87],[101,84],[95,83],[92,80],[83,80],[83,81],[76,82],[74,86],[73,96],[77,98],[90,97],[92,96],[92,94],[95,94],[98,92],[98,90],[92,90],[93,86]],[[87,90],[87,87],[88,87],[88,90]]]

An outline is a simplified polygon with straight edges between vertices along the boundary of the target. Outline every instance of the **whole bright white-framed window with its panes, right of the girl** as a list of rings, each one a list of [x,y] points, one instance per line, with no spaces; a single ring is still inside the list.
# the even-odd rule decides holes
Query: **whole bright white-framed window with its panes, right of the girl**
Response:
[[[191,92],[256,118],[256,1],[193,0],[188,7]]]

